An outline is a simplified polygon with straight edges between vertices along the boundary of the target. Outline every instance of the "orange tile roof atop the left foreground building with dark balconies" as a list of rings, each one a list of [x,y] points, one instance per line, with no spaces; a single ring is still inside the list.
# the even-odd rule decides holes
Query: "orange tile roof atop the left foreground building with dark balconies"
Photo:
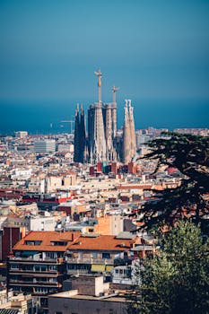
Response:
[[[22,240],[20,240],[14,247],[15,250],[38,250],[38,251],[61,251],[65,250],[73,243],[74,240],[79,238],[80,232],[59,232],[59,231],[30,231]],[[39,245],[27,245],[26,241],[39,241]],[[53,245],[53,241],[66,241],[66,245]]]

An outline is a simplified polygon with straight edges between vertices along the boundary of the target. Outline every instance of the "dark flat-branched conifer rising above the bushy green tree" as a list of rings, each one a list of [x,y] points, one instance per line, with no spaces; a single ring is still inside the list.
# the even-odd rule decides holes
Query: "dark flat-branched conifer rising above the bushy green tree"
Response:
[[[166,188],[155,192],[156,201],[147,202],[140,214],[142,222],[151,230],[161,224],[172,225],[177,218],[190,216],[203,229],[208,227],[205,214],[208,205],[205,195],[209,192],[209,145],[208,136],[167,133],[148,143],[151,153],[144,158],[157,161],[156,173],[163,165],[177,168],[182,174],[178,188]],[[204,219],[203,219],[204,218]]]

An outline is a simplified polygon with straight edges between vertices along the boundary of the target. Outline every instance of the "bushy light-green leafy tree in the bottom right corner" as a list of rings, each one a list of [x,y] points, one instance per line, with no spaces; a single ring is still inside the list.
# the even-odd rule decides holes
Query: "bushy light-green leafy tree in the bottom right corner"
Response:
[[[199,226],[177,223],[160,254],[144,260],[128,313],[209,313],[208,242]]]

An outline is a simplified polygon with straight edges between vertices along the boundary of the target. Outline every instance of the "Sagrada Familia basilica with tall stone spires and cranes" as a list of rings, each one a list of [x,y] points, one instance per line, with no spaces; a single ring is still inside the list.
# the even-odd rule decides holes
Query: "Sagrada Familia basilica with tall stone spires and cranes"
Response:
[[[135,120],[131,100],[126,100],[123,135],[117,132],[118,88],[113,86],[113,100],[101,100],[101,72],[98,76],[98,101],[88,109],[88,133],[86,132],[83,106],[77,105],[74,126],[74,161],[95,164],[99,161],[122,161],[125,164],[135,157]],[[80,109],[79,109],[80,107]]]

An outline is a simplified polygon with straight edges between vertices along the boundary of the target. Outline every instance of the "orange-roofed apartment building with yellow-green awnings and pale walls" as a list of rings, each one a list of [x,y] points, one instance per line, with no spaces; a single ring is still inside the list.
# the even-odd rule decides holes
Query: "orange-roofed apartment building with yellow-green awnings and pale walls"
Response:
[[[88,233],[81,235],[66,252],[68,275],[104,275],[110,281],[114,266],[131,264],[131,251],[140,239],[129,232],[118,236]]]

